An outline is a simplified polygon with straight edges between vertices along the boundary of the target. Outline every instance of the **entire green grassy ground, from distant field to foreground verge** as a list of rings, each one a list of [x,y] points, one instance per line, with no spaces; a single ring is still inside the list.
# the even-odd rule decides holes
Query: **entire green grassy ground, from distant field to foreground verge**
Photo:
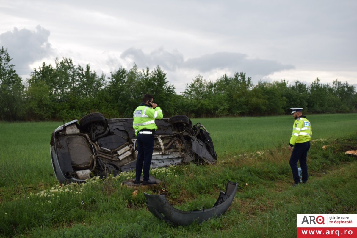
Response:
[[[357,212],[357,162],[344,153],[357,149],[356,116],[307,116],[310,177],[298,187],[286,149],[292,116],[193,119],[211,133],[217,164],[154,169],[162,183],[137,191],[121,185],[134,173],[60,188],[49,147],[62,123],[0,122],[0,237],[296,237],[296,214]],[[231,207],[202,224],[171,226],[144,205],[142,192],[164,192],[176,208],[208,208],[227,180],[240,185]]]

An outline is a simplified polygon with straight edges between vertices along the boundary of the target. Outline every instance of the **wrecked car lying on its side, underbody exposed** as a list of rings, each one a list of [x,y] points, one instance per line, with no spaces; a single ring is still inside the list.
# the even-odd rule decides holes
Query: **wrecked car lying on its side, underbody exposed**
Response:
[[[191,161],[215,163],[210,134],[187,116],[155,121],[151,168]],[[106,177],[135,169],[137,151],[132,118],[106,119],[90,113],[59,126],[52,133],[51,161],[61,183],[84,182],[91,176]]]

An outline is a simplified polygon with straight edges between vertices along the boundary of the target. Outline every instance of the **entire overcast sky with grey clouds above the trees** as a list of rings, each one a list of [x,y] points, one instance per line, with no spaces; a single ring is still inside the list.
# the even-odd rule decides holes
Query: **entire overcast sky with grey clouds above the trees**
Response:
[[[157,65],[176,92],[245,72],[357,86],[356,0],[0,0],[0,47],[26,79],[69,57],[108,77]]]

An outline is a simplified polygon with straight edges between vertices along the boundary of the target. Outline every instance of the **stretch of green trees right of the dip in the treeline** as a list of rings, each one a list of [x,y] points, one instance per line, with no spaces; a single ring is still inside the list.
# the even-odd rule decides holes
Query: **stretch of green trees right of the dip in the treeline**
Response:
[[[243,72],[223,75],[216,81],[197,76],[186,85],[183,96],[190,99],[188,112],[199,116],[267,116],[290,113],[302,107],[309,113],[347,113],[357,109],[355,87],[335,80],[332,86],[316,79],[310,86],[286,80],[253,85]]]

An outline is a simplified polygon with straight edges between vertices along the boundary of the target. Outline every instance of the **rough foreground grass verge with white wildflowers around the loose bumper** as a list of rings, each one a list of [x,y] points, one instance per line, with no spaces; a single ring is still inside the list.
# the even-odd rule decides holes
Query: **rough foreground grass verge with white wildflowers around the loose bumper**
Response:
[[[356,141],[356,140],[355,140]],[[343,141],[342,141],[343,144]],[[341,150],[342,148],[336,148]],[[270,151],[258,157],[227,159],[218,166],[176,166],[154,169],[162,181],[150,187],[126,187],[116,178],[90,179],[29,194],[26,199],[1,204],[0,232],[18,237],[296,237],[296,214],[355,214],[357,212],[357,162],[333,164],[328,175],[310,176],[292,187],[283,154]],[[264,156],[265,155],[265,156]],[[256,161],[252,166],[251,160]],[[237,165],[240,166],[237,166]],[[266,169],[269,168],[269,169]],[[147,211],[142,192],[164,193],[178,209],[209,208],[224,190],[227,179],[240,184],[223,216],[202,224],[171,226]],[[1,236],[1,235],[0,235]]]

